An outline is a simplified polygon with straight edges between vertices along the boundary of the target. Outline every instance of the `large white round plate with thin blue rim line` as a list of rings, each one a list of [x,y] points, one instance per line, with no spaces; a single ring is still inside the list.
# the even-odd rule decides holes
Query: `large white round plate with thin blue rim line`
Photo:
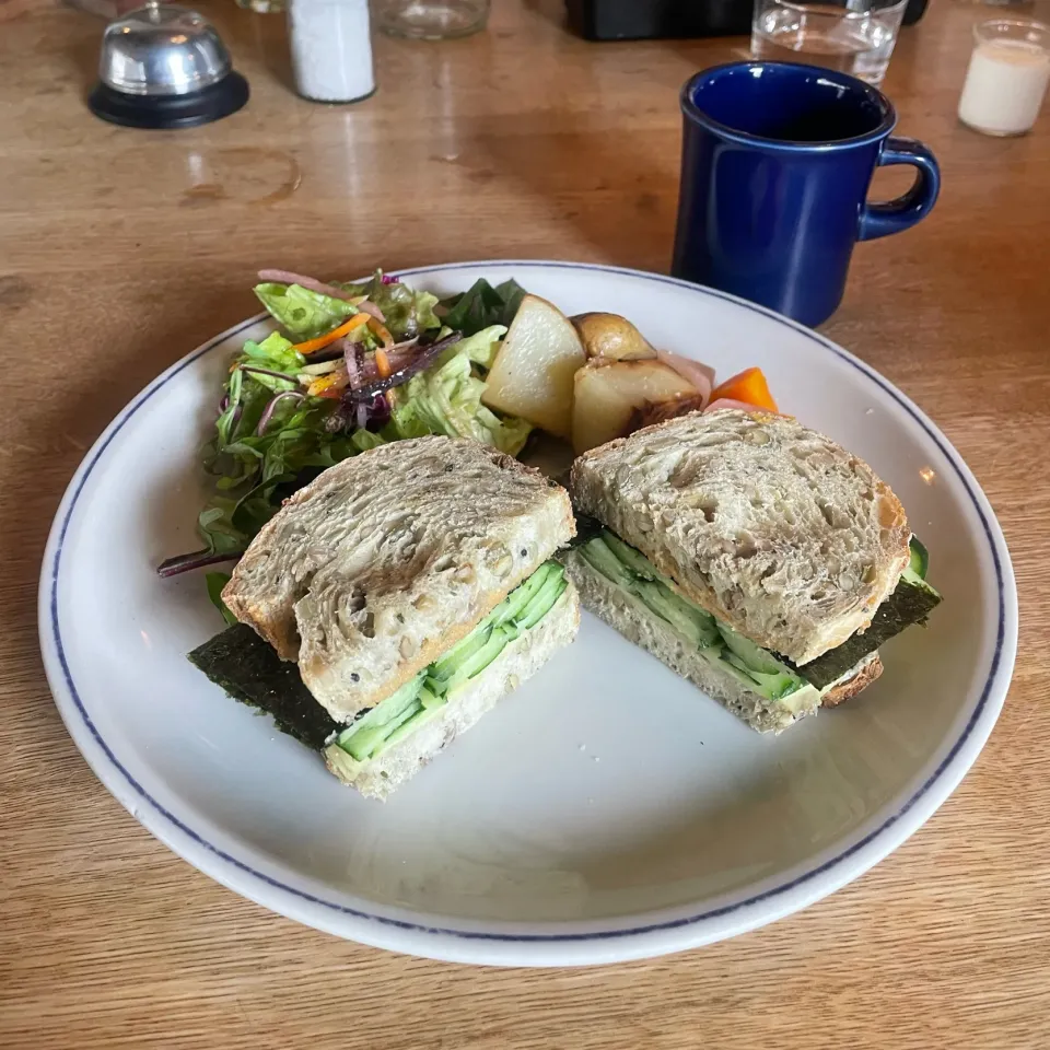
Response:
[[[151,383],[88,454],[40,580],[56,703],[105,786],[201,872],[338,936],[467,962],[579,965],[708,944],[856,878],[947,798],[1003,704],[1017,599],[959,454],[862,361],[790,320],[630,270],[498,261],[402,275],[439,294],[514,277],[565,313],[628,314],[859,454],[903,502],[944,603],[884,645],[863,696],[761,736],[585,616],[574,645],[385,803],[343,788],[186,660],[222,623],[194,545],[198,448],[253,318]]]

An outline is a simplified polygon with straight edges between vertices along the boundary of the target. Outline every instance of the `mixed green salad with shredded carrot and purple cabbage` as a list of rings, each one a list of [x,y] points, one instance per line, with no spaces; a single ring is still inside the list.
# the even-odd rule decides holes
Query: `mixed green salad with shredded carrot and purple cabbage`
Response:
[[[161,575],[235,561],[282,500],[385,442],[444,434],[521,452],[532,424],[481,404],[525,294],[513,280],[479,280],[444,301],[381,270],[360,283],[285,270],[259,280],[255,294],[277,327],[231,363],[203,451],[212,485],[197,525],[203,547],[167,559]],[[208,574],[220,609],[226,579]]]

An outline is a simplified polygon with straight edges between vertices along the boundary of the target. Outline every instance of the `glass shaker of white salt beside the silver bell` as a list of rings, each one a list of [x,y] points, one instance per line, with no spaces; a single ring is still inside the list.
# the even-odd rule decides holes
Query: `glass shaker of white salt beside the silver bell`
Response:
[[[295,90],[312,102],[360,102],[375,91],[369,0],[291,0]]]

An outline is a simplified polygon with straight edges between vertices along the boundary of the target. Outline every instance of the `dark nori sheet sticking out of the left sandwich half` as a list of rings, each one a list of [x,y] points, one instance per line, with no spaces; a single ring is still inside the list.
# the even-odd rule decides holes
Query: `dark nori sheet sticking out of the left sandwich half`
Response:
[[[314,750],[340,728],[303,685],[299,666],[281,660],[244,623],[195,649],[189,661],[234,700],[265,711],[282,733]]]

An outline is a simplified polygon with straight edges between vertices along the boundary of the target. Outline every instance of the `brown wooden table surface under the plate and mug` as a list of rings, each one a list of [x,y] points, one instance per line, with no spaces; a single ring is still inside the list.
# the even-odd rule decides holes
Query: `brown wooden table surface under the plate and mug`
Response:
[[[885,86],[900,131],[938,154],[943,196],[914,231],[859,248],[826,326],[969,462],[1020,592],[1002,719],[902,849],[801,914],[677,957],[447,966],[223,889],[136,824],[67,736],[37,652],[51,516],[116,411],[255,311],[257,267],[521,256],[666,270],[678,88],[744,42],[587,45],[555,0],[494,7],[469,40],[378,40],[380,91],[348,108],[289,93],[282,19],[207,8],[253,97],[177,133],[88,113],[97,21],[44,8],[4,25],[0,1046],[1050,1046],[1050,115],[1014,140],[956,122],[988,9],[938,0],[903,33]]]

